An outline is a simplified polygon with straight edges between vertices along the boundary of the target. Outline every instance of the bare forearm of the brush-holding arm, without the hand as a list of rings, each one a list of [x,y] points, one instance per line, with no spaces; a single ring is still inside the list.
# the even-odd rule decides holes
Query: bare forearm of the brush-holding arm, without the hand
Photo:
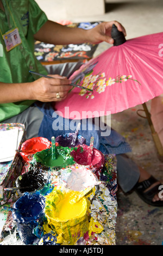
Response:
[[[30,100],[29,83],[2,83],[0,82],[0,103]]]

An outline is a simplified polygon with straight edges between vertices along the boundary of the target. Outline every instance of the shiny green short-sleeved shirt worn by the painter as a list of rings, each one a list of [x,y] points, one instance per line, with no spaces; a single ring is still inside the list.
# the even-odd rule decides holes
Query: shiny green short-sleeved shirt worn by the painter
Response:
[[[2,0],[2,3],[5,13],[0,9],[1,33],[5,34],[14,29],[16,24],[22,44],[7,52],[0,34],[1,50],[3,47],[3,54],[0,52],[0,82],[33,82],[38,77],[30,74],[29,70],[47,74],[46,69],[34,55],[33,36],[47,21],[47,16],[34,0]],[[33,102],[26,100],[0,104],[0,122],[21,113]]]

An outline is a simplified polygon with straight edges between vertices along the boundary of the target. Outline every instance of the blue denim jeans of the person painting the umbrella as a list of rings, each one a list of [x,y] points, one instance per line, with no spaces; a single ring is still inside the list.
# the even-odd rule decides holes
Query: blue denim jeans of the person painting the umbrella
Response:
[[[72,130],[71,127],[76,127],[78,123],[81,123],[79,134],[86,139],[86,144],[90,144],[90,139],[93,136],[94,147],[102,151],[103,154],[117,155],[131,151],[130,145],[115,130],[111,129],[109,136],[101,136],[103,131],[99,126],[92,123],[92,119],[72,120],[62,118],[57,114],[55,117],[53,117],[54,109],[51,106],[51,103],[37,102],[35,105],[43,113],[43,119],[39,129],[39,136],[45,137],[49,139],[49,141],[51,141],[52,136],[57,137],[68,132],[75,132],[75,130]],[[85,127],[87,127],[86,130]],[[91,127],[90,130],[89,127]]]

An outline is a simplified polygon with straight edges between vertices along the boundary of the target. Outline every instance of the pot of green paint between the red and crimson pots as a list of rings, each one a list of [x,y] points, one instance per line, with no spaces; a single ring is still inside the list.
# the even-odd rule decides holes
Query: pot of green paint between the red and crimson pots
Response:
[[[51,148],[37,152],[33,158],[43,167],[61,169],[74,163],[73,157],[70,155],[71,151],[70,148],[58,146],[55,149],[55,159],[52,159]]]

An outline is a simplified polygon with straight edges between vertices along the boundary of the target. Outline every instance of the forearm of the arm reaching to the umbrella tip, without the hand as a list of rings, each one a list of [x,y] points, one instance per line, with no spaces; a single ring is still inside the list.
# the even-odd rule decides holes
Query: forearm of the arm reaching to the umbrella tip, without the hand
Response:
[[[87,31],[82,28],[72,28],[47,21],[34,35],[34,38],[55,45],[81,44],[87,41]]]

